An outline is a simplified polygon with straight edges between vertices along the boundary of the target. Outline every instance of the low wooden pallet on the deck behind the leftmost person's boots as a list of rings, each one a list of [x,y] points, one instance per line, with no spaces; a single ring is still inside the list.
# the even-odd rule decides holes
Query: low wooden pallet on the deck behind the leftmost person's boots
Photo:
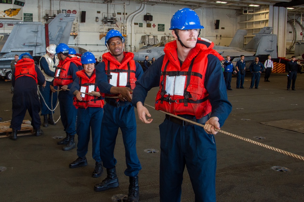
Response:
[[[10,123],[0,122],[0,138],[8,137],[12,133],[12,128],[9,128]],[[2,128],[5,127],[5,128]],[[5,133],[5,134],[4,134]],[[21,130],[18,131],[17,136],[33,135],[34,129],[29,120],[23,120]]]

